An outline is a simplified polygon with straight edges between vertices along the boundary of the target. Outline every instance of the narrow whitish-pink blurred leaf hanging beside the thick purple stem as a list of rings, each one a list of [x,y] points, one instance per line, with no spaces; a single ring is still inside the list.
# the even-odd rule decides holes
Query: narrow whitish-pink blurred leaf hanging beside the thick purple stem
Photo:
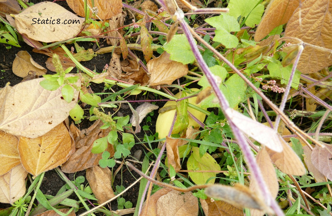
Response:
[[[227,109],[226,114],[244,134],[251,136],[257,142],[276,152],[283,151],[285,140],[272,128],[256,122],[233,109]]]

